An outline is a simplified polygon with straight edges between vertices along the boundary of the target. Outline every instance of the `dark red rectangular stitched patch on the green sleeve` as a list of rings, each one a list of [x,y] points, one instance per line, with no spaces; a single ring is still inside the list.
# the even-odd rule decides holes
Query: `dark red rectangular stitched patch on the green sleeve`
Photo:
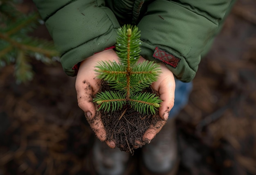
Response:
[[[165,50],[160,49],[159,47],[155,48],[153,57],[173,68],[177,68],[178,63],[180,62],[180,58],[175,57],[171,53],[168,53]]]

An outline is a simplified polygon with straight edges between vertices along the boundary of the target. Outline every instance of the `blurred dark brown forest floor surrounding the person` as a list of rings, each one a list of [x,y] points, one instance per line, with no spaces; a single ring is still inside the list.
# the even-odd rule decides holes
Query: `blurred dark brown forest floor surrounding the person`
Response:
[[[15,7],[36,12],[32,0]],[[1,32],[20,31],[15,27]],[[0,175],[90,175],[94,133],[77,105],[75,77],[63,72],[45,26],[31,28],[26,33],[38,42],[30,44],[43,43],[47,52],[0,50]],[[193,85],[177,118],[178,175],[256,175],[255,0],[238,0]]]

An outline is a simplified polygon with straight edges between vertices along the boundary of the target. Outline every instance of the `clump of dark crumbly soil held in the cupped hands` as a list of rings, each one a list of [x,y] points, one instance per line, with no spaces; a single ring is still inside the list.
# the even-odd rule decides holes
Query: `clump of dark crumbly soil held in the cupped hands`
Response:
[[[114,89],[110,88],[105,81],[101,81],[101,89],[99,92],[106,90]],[[143,92],[155,93],[159,96],[159,94],[150,87],[144,89]],[[95,104],[95,106],[97,109],[97,104]],[[150,113],[140,114],[129,105],[114,112],[104,112],[103,110],[99,112],[101,113],[101,119],[106,129],[107,140],[115,140],[116,147],[121,151],[130,152],[132,154],[135,148],[146,144],[146,142],[142,140],[142,137],[150,125],[155,125],[157,121],[162,120],[158,112],[155,115]],[[138,144],[137,141],[140,144]]]

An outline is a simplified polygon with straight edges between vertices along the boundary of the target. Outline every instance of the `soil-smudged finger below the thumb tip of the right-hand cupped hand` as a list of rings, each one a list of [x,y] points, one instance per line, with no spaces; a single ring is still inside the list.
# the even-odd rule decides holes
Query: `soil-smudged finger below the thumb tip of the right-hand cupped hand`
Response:
[[[166,124],[166,121],[158,121],[157,124],[151,124],[149,129],[143,135],[144,142],[150,143],[150,141],[155,137],[157,133],[162,129],[162,127]]]

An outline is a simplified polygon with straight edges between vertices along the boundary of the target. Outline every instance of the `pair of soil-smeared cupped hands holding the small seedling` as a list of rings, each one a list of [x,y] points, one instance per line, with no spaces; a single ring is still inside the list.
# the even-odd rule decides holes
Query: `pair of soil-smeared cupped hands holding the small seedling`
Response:
[[[113,49],[104,50],[97,53],[81,62],[79,71],[76,77],[76,92],[79,107],[85,112],[85,116],[90,124],[90,127],[94,130],[97,137],[101,141],[106,141],[106,130],[101,120],[99,113],[96,114],[96,109],[92,103],[92,95],[97,94],[100,88],[100,80],[96,78],[95,66],[98,61],[117,61],[118,56]],[[145,60],[140,58],[139,61]],[[159,108],[159,115],[164,119],[157,123],[155,126],[151,126],[144,134],[143,140],[150,142],[155,135],[162,129],[168,118],[168,112],[171,110],[174,104],[174,91],[175,81],[173,74],[166,66],[161,64],[162,73],[158,80],[152,84],[154,90],[159,91],[160,98],[162,99],[161,107]],[[115,141],[106,141],[109,147],[115,147]],[[140,145],[142,143],[138,143]]]

